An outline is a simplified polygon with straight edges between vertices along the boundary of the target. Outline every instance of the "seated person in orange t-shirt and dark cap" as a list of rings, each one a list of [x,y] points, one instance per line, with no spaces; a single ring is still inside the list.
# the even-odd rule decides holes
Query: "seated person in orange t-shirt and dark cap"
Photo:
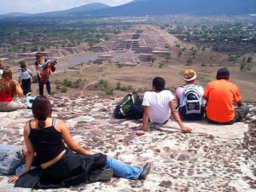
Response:
[[[204,97],[207,99],[206,116],[209,123],[233,124],[244,119],[249,112],[241,104],[241,96],[236,84],[230,83],[227,68],[218,69],[216,79],[207,84]],[[237,108],[233,106],[236,102]]]

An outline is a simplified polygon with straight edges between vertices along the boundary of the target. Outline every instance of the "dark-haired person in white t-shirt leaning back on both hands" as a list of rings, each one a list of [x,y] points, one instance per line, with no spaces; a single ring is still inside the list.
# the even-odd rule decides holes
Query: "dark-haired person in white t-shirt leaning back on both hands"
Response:
[[[145,131],[147,131],[148,120],[150,120],[151,123],[166,123],[171,116],[171,112],[183,132],[192,131],[189,127],[183,125],[175,108],[175,97],[170,90],[165,90],[165,85],[165,79],[156,77],[153,79],[152,83],[153,91],[145,92],[143,97],[143,131],[137,131],[137,135],[145,134]]]

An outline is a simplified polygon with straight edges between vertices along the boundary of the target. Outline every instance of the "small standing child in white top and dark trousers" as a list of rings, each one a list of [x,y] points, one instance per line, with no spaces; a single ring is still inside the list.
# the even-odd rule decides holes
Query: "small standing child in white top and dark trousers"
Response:
[[[26,63],[20,64],[19,73],[19,83],[21,80],[21,87],[23,90],[23,95],[31,93],[31,82],[32,82],[32,72],[26,68]]]

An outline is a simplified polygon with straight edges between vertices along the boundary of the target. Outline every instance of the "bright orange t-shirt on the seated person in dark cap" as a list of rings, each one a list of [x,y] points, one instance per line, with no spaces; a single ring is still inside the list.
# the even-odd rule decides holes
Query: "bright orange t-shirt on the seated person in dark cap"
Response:
[[[207,84],[204,97],[207,98],[207,118],[226,123],[235,118],[234,102],[240,102],[241,96],[236,84],[220,79]]]

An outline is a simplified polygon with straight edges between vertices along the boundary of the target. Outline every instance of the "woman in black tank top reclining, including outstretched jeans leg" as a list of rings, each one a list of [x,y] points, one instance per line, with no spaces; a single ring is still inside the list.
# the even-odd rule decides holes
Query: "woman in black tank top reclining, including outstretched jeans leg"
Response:
[[[61,119],[51,118],[51,112],[48,98],[37,96],[32,104],[34,119],[26,122],[24,127],[26,173],[18,178],[15,187],[69,187],[86,181],[108,181],[113,175],[129,179],[147,177],[150,163],[144,167],[130,166],[107,158],[105,154],[92,154],[74,142],[65,123]],[[38,179],[31,178],[34,175],[32,172],[37,170],[29,171],[35,152],[44,176],[40,177],[40,174]],[[34,182],[28,186],[28,180]]]

